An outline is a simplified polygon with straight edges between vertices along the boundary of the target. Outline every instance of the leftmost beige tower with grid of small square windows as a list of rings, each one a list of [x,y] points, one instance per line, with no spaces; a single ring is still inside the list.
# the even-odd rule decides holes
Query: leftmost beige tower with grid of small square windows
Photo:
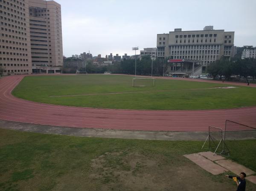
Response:
[[[28,0],[0,0],[0,68],[3,75],[31,74]]]

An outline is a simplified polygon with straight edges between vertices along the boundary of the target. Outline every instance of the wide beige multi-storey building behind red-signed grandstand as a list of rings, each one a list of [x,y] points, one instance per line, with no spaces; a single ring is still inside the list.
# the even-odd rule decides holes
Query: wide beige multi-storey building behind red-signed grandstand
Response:
[[[167,34],[157,34],[157,57],[195,60],[205,67],[222,56],[231,57],[234,46],[233,31],[204,30],[182,31],[175,29]]]

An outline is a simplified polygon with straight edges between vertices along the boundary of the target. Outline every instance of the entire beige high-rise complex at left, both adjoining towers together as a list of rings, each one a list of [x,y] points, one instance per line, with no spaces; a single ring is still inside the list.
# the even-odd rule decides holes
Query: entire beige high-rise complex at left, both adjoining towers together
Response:
[[[60,72],[61,5],[45,0],[0,0],[3,74]]]

